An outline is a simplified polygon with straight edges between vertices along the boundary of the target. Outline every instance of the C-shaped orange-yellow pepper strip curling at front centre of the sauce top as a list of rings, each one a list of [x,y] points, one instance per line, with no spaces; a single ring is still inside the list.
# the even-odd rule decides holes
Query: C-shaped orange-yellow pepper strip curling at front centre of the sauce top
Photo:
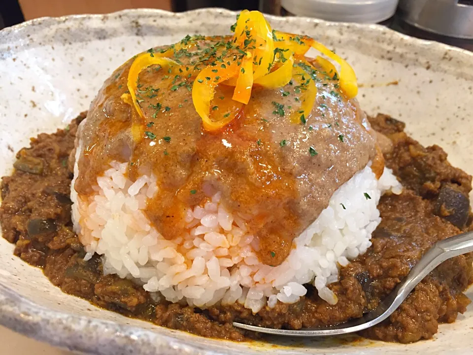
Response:
[[[213,67],[211,66],[204,68],[199,75],[197,75],[192,87],[192,101],[194,107],[199,116],[202,117],[203,127],[207,131],[218,130],[235,118],[235,115],[225,117],[222,113],[220,120],[213,121],[209,118],[209,111],[210,101],[215,96],[215,87],[222,81],[235,76],[240,67],[233,62],[231,65],[227,66],[226,69],[218,71],[218,79],[216,73],[212,72],[212,69]],[[207,80],[205,77],[210,77],[210,80]]]

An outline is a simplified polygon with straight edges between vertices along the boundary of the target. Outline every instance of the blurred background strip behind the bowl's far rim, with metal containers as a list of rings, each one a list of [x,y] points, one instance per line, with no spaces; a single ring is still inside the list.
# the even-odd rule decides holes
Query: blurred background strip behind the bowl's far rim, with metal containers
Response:
[[[473,0],[0,0],[0,29],[42,16],[127,8],[260,10],[278,16],[379,23],[424,39],[473,50]]]

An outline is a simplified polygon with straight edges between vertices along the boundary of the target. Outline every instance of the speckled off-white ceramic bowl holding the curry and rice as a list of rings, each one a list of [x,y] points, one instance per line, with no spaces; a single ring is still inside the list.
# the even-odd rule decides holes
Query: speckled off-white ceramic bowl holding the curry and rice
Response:
[[[236,13],[128,10],[30,21],[0,32],[0,176],[39,132],[53,132],[88,108],[103,80],[135,53],[186,34],[229,33]],[[380,26],[269,17],[274,28],[318,38],[347,57],[363,88],[362,106],[407,123],[423,144],[438,143],[473,173],[470,119],[472,53],[420,41]],[[388,83],[391,83],[388,85]],[[397,84],[394,84],[397,83]],[[13,256],[0,238],[0,323],[71,350],[93,354],[471,354],[472,309],[411,345],[346,338],[232,343],[200,338],[103,311],[63,294]],[[472,292],[470,292],[472,295]],[[348,339],[350,340],[350,339]]]

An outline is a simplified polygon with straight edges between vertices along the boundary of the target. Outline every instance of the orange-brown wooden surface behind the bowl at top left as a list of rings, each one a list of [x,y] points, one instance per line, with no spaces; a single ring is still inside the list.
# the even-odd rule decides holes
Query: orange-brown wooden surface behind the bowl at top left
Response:
[[[19,2],[25,20],[42,16],[99,14],[140,7],[171,10],[171,0],[19,0]]]

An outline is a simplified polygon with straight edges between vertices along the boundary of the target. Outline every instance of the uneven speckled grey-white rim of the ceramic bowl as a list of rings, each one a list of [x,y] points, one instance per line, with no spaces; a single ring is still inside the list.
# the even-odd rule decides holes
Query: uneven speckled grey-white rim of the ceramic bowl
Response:
[[[0,30],[0,60],[1,54],[8,43],[14,38],[21,38],[26,31],[31,28],[37,30],[51,28],[60,24],[68,23],[71,26],[82,19],[113,19],[120,16],[139,16],[139,15],[160,15],[169,18],[198,18],[201,13],[213,12],[216,15],[236,15],[238,11],[230,11],[222,8],[204,8],[190,10],[180,13],[174,13],[160,9],[126,9],[106,14],[81,14],[66,15],[61,17],[40,17],[23,22],[12,27]],[[286,21],[295,17],[281,18],[273,15],[266,15],[269,19],[277,21]],[[375,31],[379,36],[389,34],[396,40],[407,40],[413,42],[419,47],[427,50],[448,51],[468,58],[473,63],[473,53],[467,50],[453,47],[447,44],[423,40],[407,36],[388,29],[382,25],[354,24],[346,22],[330,22],[314,18],[297,17],[301,23],[321,24],[324,26],[346,28],[356,27],[366,31]],[[11,50],[11,49],[10,49]],[[71,296],[74,297],[74,296]],[[118,324],[113,321],[94,319],[87,316],[77,316],[70,313],[54,311],[43,306],[37,305],[34,301],[21,296],[13,289],[0,284],[0,324],[10,328],[18,333],[22,333],[36,340],[50,343],[54,346],[66,348],[71,351],[77,351],[87,354],[194,354],[194,355],[217,355],[234,354],[233,351],[224,349],[215,352],[208,349],[205,345],[196,343],[186,344],[169,335],[165,335],[149,329],[136,326]],[[96,341],[83,342],[80,336],[71,336],[83,329],[85,326],[94,329]],[[137,346],[139,344],[139,346]]]

